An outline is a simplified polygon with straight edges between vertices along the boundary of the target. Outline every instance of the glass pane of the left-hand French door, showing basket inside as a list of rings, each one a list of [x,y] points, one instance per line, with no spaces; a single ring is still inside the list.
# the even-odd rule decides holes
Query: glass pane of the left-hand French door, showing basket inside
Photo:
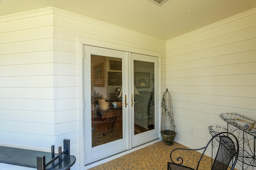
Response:
[[[123,138],[122,59],[91,55],[92,147]]]

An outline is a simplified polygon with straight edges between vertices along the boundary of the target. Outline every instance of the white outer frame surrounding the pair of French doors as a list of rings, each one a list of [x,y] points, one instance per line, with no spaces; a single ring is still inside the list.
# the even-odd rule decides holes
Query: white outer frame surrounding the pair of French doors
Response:
[[[107,39],[107,38],[106,38]],[[108,158],[105,158],[103,160],[99,160],[97,162],[93,162],[91,164],[88,164],[85,166],[85,151],[84,151],[84,115],[83,115],[83,57],[84,57],[84,52],[83,52],[83,45],[90,45],[90,46],[95,46],[95,47],[101,47],[101,48],[107,48],[107,49],[114,49],[114,50],[119,50],[119,51],[126,51],[126,52],[131,52],[131,53],[138,53],[138,54],[143,54],[143,55],[150,55],[154,57],[158,57],[159,61],[159,77],[161,77],[161,53],[154,52],[154,51],[148,51],[144,49],[139,49],[135,47],[129,47],[128,43],[127,46],[125,45],[120,45],[117,40],[113,39],[107,39],[108,41],[101,41],[97,39],[90,39],[90,38],[84,38],[84,37],[78,37],[78,138],[79,138],[79,149],[78,149],[78,154],[79,154],[79,167],[80,170],[86,170],[88,168],[92,168],[94,166],[97,166],[99,164],[108,162],[110,160],[113,160],[115,158],[118,158],[120,156],[123,156],[125,154],[134,152],[135,150],[142,149],[144,147],[147,147],[149,145],[152,145],[154,143],[157,143],[162,140],[162,136],[160,135],[160,129],[159,129],[159,139],[156,139],[154,141],[151,141],[149,143],[146,143],[144,145],[140,145],[138,147],[135,147],[133,149],[121,152],[119,154],[116,154],[114,156],[110,156]],[[114,42],[113,42],[114,41]],[[162,94],[162,84],[161,84],[161,79],[159,81],[159,94]],[[157,97],[156,97],[157,98]],[[159,105],[161,104],[161,96],[158,96],[158,102]],[[159,112],[161,110],[159,109]],[[159,120],[161,121],[160,117]],[[161,123],[159,121],[159,123]]]

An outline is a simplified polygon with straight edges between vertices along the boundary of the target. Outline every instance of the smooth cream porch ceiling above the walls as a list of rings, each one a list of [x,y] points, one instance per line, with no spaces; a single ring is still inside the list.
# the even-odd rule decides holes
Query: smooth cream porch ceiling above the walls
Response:
[[[256,8],[256,0],[0,0],[0,16],[49,6],[168,40]]]

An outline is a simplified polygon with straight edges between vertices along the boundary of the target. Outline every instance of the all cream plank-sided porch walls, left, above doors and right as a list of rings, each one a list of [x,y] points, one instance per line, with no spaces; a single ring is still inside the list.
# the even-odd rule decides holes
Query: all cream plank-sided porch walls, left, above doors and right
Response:
[[[255,9],[165,42],[55,8],[0,18],[0,145],[50,151],[71,142],[79,169],[78,37],[162,54],[175,141],[202,146],[222,112],[256,119]],[[97,45],[94,44],[94,45]],[[166,48],[166,49],[165,49]],[[166,53],[165,53],[166,51]],[[166,63],[166,64],[165,64]],[[190,129],[193,134],[190,134]]]

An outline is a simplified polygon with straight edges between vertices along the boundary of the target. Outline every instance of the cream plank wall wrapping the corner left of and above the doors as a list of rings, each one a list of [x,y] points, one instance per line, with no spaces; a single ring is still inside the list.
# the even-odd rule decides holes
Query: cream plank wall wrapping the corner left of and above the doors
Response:
[[[164,57],[165,41],[56,8],[0,19],[0,145],[50,152],[51,145],[57,149],[70,139],[76,156],[71,169],[78,170],[84,153],[78,37],[89,45],[112,43],[118,50]]]

